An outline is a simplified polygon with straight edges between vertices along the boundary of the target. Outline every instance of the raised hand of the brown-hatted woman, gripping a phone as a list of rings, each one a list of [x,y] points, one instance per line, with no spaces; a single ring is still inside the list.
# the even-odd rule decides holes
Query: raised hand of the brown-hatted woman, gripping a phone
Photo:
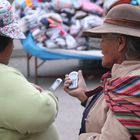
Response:
[[[87,86],[81,70],[78,71],[78,87],[76,89],[69,89],[72,81],[69,78],[68,74],[65,75],[64,80],[64,91],[66,91],[69,95],[76,97],[81,102],[84,102],[87,99],[87,96],[85,95],[85,91],[87,91]]]

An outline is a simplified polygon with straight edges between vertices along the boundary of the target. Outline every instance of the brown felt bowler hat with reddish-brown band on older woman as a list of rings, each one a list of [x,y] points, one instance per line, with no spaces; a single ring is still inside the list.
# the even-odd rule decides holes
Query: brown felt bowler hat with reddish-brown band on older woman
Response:
[[[117,5],[107,13],[102,25],[84,31],[83,35],[98,38],[104,33],[140,37],[140,7],[130,4]]]

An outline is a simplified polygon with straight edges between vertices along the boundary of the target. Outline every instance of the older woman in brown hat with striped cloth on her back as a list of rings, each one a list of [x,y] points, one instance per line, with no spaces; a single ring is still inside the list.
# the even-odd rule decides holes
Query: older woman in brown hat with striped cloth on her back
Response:
[[[140,7],[115,6],[84,34],[102,38],[102,65],[111,73],[90,91],[81,71],[76,89],[65,77],[64,90],[86,106],[79,140],[140,140]]]

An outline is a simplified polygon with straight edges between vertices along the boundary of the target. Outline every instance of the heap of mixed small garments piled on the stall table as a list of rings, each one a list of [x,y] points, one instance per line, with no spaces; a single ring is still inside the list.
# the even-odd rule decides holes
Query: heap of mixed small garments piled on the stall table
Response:
[[[15,12],[23,32],[46,48],[88,50],[100,40],[82,36],[82,31],[102,24],[102,0],[22,0]]]

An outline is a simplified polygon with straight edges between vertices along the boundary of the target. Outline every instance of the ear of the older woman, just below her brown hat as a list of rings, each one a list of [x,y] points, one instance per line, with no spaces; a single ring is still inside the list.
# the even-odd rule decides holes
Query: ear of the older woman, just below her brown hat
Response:
[[[118,52],[122,53],[125,52],[127,49],[127,40],[126,37],[124,35],[120,35],[119,39],[118,39]]]

